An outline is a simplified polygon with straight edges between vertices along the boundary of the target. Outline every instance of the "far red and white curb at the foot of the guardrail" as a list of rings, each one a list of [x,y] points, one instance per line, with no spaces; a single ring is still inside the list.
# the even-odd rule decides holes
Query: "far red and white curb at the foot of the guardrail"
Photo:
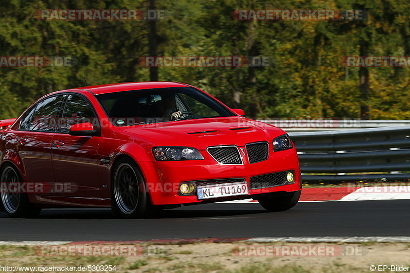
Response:
[[[310,187],[303,188],[299,202],[367,201],[410,199],[410,186]],[[253,203],[252,199],[221,203]]]

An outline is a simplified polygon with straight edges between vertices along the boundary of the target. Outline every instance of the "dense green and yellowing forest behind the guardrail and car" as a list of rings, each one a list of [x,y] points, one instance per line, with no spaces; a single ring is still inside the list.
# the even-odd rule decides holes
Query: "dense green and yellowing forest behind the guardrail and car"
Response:
[[[44,9],[161,10],[158,20],[40,20]],[[237,20],[237,9],[365,10],[363,20]],[[194,85],[247,116],[410,118],[408,67],[346,67],[344,56],[410,56],[406,0],[1,0],[1,56],[71,66],[0,67],[0,119],[44,94],[129,81]],[[263,67],[141,66],[144,56],[265,56]]]

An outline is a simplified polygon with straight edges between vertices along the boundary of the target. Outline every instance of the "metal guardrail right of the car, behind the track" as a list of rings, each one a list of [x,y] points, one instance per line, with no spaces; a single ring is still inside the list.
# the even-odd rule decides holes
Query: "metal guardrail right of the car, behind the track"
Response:
[[[304,182],[410,179],[410,126],[289,135]]]

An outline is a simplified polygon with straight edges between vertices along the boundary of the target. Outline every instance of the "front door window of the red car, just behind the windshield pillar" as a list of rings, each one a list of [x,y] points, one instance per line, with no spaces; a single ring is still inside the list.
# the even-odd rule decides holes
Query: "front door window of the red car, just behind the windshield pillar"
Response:
[[[83,97],[68,95],[59,131],[69,133],[72,125],[85,122],[96,125],[96,116],[90,104]]]

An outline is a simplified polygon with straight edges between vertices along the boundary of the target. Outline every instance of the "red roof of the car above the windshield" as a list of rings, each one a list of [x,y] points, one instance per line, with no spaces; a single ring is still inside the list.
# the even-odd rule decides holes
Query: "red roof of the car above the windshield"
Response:
[[[124,83],[112,83],[110,85],[99,85],[99,86],[86,86],[73,88],[80,90],[87,90],[95,95],[139,90],[139,89],[150,89],[150,88],[167,88],[167,87],[187,87],[184,83],[173,82],[173,81],[144,81],[144,82],[124,82]]]

